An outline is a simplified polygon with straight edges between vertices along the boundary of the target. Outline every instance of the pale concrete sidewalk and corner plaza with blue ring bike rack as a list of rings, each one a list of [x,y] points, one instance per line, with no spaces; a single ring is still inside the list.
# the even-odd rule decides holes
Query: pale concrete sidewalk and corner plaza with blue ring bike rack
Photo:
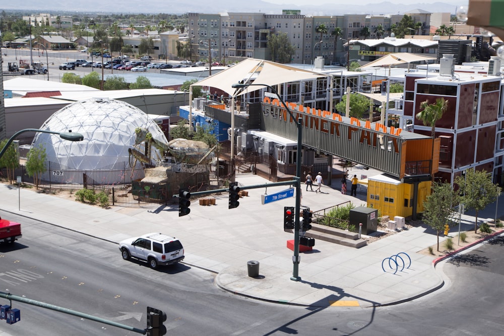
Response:
[[[258,176],[237,178],[241,185],[267,183]],[[336,182],[336,183],[339,183]],[[302,206],[317,211],[351,200],[365,204],[365,194],[342,195],[335,188],[323,186],[323,193],[305,191]],[[267,192],[286,187],[268,187]],[[82,232],[111,242],[162,232],[179,238],[185,251],[184,263],[217,273],[221,288],[243,296],[273,302],[308,306],[373,306],[409,300],[443,286],[443,277],[433,266],[433,256],[417,253],[436,243],[435,234],[423,227],[413,227],[360,249],[317,240],[312,251],[301,253],[298,282],[290,280],[292,251],[286,241],[293,234],[283,231],[283,207],[293,206],[294,198],[261,204],[264,189],[249,190],[240,198],[240,206],[228,209],[227,195],[217,196],[215,206],[191,205],[191,214],[178,217],[178,207],[120,208],[104,210],[77,201],[61,199],[34,190],[21,190],[0,184],[0,216],[7,213],[34,218]],[[20,210],[18,210],[20,207]],[[480,218],[486,218],[480,214]],[[492,217],[492,216],[489,216]],[[470,230],[474,218],[464,216],[462,231]],[[26,229],[25,229],[26,230]],[[428,231],[428,232],[426,232]],[[26,232],[24,232],[26,234]],[[388,260],[401,254],[404,270],[391,271]],[[260,262],[260,276],[247,275],[247,261]],[[117,251],[117,262],[121,259]],[[408,267],[409,266],[409,267]]]

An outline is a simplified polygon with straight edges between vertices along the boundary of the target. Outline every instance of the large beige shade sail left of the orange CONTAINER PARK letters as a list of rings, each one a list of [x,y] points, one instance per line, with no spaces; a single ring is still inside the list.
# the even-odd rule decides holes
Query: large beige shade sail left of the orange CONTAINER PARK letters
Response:
[[[297,69],[289,65],[275,63],[263,59],[247,58],[238,64],[227,68],[215,75],[201,80],[193,86],[210,86],[233,95],[235,89],[231,86],[238,82],[253,79],[255,83],[274,86],[277,84],[327,77],[309,70]],[[260,86],[251,86],[247,92],[261,89]]]

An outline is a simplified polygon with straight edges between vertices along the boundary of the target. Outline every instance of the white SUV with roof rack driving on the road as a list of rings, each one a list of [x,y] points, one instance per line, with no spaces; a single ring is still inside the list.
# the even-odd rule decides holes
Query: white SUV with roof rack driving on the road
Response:
[[[119,243],[122,258],[146,260],[151,268],[171,265],[184,259],[184,248],[180,241],[161,233],[149,233],[129,238]]]

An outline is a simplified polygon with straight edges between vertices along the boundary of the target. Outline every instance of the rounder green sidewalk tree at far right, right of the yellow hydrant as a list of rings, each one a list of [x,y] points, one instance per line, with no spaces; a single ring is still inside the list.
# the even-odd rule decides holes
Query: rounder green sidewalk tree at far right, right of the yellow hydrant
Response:
[[[478,212],[494,202],[500,193],[500,187],[493,184],[491,175],[486,171],[476,171],[474,168],[466,170],[465,176],[457,176],[455,184],[459,187],[460,203],[466,209],[476,212],[474,233],[478,231]]]

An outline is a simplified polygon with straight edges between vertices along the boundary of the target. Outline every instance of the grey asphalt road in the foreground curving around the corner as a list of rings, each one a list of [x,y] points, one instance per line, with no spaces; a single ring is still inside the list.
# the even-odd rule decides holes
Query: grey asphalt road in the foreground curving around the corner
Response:
[[[500,335],[504,238],[442,263],[447,285],[380,308],[306,308],[242,298],[185,264],[151,270],[122,260],[116,244],[10,215],[23,238],[0,247],[0,290],[144,328],[146,306],[167,313],[168,335]],[[5,304],[4,299],[0,303]],[[0,336],[132,335],[131,331],[24,303]]]

